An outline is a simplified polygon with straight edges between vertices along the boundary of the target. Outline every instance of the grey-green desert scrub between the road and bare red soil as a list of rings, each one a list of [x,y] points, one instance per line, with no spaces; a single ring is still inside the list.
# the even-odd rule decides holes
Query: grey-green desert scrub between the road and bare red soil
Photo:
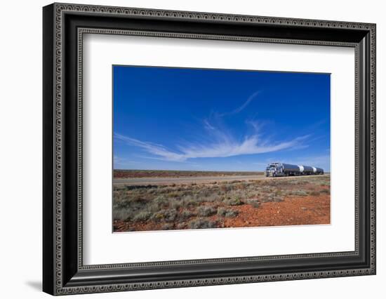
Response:
[[[330,194],[324,176],[218,181],[208,184],[114,185],[113,220],[128,230],[175,230],[223,227],[265,203]],[[252,210],[253,211],[253,210]],[[115,226],[114,226],[115,227]]]

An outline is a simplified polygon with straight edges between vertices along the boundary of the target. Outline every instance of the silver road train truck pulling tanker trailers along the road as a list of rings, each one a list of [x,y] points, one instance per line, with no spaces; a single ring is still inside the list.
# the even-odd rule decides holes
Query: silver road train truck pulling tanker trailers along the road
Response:
[[[274,162],[268,164],[265,169],[266,176],[289,176],[289,175],[322,175],[323,168],[305,165],[293,165],[286,163]]]

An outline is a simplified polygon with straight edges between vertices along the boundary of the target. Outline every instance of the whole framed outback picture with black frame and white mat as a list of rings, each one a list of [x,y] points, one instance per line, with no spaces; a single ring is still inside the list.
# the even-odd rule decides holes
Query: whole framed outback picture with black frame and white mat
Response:
[[[52,295],[375,274],[375,24],[43,8]]]

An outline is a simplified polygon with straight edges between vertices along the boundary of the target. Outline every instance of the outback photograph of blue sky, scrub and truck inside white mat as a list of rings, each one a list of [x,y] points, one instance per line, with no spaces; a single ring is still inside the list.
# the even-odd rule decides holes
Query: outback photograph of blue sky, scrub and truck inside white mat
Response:
[[[112,72],[113,232],[330,224],[331,74]]]

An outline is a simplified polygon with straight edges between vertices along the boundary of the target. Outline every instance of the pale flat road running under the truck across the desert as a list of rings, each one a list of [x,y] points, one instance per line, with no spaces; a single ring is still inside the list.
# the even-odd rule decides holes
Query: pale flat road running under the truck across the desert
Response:
[[[320,175],[324,176],[324,175]],[[307,178],[306,176],[289,178]],[[197,176],[181,178],[117,178],[114,185],[162,185],[162,184],[203,184],[208,182],[224,182],[232,180],[282,180],[283,178],[267,178],[265,175],[229,175],[229,176]]]

